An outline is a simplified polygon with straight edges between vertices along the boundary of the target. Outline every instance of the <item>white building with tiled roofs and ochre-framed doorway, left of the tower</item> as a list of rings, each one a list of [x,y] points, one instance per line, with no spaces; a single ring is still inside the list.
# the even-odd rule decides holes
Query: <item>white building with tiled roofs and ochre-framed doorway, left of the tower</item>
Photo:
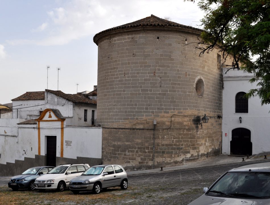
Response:
[[[102,163],[96,95],[45,90],[13,99],[13,118],[0,119],[0,176],[38,165]]]

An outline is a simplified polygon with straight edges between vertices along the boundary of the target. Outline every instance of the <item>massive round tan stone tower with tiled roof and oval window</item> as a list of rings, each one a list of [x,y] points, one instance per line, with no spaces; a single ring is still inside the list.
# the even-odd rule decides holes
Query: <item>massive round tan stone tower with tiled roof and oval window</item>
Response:
[[[155,169],[221,153],[220,55],[199,57],[201,32],[151,15],[94,36],[104,164]]]

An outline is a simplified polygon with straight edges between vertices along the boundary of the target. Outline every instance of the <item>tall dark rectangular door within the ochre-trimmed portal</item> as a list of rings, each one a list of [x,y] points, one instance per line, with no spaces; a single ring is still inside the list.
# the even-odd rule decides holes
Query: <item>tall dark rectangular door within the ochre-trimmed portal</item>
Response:
[[[56,136],[47,136],[46,166],[56,166]]]

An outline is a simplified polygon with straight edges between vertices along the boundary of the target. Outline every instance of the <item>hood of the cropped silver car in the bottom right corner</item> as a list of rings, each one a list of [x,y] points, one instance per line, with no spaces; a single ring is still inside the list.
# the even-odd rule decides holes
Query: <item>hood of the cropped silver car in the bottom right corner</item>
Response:
[[[188,205],[270,205],[270,199],[213,197],[203,194]]]

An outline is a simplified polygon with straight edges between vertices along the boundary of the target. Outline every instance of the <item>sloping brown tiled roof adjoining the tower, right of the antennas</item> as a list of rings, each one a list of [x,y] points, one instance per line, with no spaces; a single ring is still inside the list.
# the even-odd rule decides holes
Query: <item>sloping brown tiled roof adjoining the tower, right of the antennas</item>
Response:
[[[78,103],[78,104],[93,104],[96,105],[97,101],[91,100],[88,98],[87,94],[66,94],[62,91],[53,91],[53,90],[45,90],[49,93],[52,93],[56,96],[59,96],[63,99],[66,99],[72,103]]]

